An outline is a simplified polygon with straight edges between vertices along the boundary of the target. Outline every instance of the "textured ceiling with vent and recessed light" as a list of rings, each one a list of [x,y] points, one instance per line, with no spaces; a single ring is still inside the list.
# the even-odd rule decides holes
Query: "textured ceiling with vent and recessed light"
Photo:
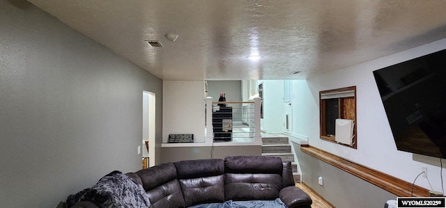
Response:
[[[444,0],[29,1],[164,80],[306,79],[446,38]]]

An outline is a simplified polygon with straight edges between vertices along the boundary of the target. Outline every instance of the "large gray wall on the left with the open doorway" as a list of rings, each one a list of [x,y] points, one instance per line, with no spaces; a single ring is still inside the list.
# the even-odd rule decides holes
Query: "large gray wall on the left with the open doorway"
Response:
[[[0,207],[56,207],[112,170],[141,169],[142,93],[156,94],[161,143],[162,81],[31,3],[9,2],[0,0]]]

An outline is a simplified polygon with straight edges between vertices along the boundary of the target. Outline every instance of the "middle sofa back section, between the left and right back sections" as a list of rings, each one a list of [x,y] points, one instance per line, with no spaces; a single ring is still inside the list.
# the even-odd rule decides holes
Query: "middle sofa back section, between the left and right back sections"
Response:
[[[186,207],[224,202],[222,159],[199,159],[174,163]]]

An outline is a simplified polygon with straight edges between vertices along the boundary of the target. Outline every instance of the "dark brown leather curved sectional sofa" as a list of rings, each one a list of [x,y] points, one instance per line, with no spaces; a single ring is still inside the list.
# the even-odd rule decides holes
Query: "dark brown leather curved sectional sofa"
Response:
[[[279,157],[178,161],[126,175],[142,185],[153,208],[240,207],[240,202],[249,207],[249,202],[256,201],[271,202],[268,206],[272,207],[312,205],[309,195],[295,187],[291,162]]]

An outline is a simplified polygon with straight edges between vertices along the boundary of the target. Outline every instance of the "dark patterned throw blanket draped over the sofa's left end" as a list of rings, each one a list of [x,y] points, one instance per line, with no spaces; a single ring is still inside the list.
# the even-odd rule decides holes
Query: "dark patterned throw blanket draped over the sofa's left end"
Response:
[[[132,208],[149,207],[151,205],[141,184],[136,184],[130,177],[118,170],[105,175],[91,188],[69,195],[66,205],[72,207],[82,201],[93,202],[100,208]]]

